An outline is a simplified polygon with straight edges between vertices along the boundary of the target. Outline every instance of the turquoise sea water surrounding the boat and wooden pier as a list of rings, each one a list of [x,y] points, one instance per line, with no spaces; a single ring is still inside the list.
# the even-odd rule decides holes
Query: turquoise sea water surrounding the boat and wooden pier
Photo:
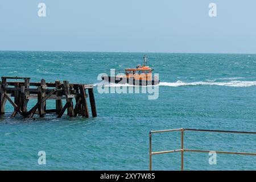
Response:
[[[159,98],[148,94],[100,94],[94,89],[97,118],[35,121],[17,116],[6,105],[0,118],[0,169],[147,170],[150,130],[181,127],[256,130],[256,55],[147,53],[159,73]],[[31,81],[69,80],[98,84],[110,68],[123,71],[142,63],[143,53],[0,52],[0,76],[26,76]],[[30,101],[30,107],[35,101]],[[55,106],[47,101],[47,108]],[[256,136],[185,133],[185,148],[255,152]],[[153,150],[180,148],[180,133],[155,134]],[[38,152],[46,151],[46,165]],[[186,170],[255,170],[254,156],[185,153]],[[180,154],[153,156],[153,169],[179,170]]]

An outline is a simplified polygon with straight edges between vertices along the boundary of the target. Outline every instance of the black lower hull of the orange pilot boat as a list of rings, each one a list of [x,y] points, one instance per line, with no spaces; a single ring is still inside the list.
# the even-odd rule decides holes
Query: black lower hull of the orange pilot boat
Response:
[[[110,83],[119,84],[119,83],[126,83],[129,85],[138,85],[138,86],[147,86],[147,85],[159,85],[160,81],[148,81],[148,80],[135,80],[134,78],[122,78],[122,77],[101,77],[102,80],[108,81]]]

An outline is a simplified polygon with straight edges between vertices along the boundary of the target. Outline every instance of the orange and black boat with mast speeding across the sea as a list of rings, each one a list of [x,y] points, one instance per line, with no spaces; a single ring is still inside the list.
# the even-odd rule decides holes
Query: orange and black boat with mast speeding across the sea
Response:
[[[122,84],[130,84],[130,85],[158,85],[159,80],[152,79],[152,71],[150,67],[146,66],[147,57],[144,55],[143,57],[144,63],[143,65],[137,65],[136,68],[127,68],[125,69],[125,74],[119,76],[102,76],[102,80],[108,81],[110,83],[122,83]]]

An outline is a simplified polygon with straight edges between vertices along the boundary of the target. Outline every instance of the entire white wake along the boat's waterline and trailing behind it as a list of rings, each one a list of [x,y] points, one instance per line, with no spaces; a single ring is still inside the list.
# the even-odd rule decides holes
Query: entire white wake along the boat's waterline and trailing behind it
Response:
[[[230,79],[231,80],[231,79]],[[184,81],[176,81],[176,82],[160,82],[159,86],[196,86],[196,85],[217,85],[217,86],[233,86],[233,87],[248,87],[248,86],[256,86],[256,81],[238,81],[232,80],[228,82],[213,82],[213,81],[196,81],[196,82],[184,82]],[[109,87],[119,87],[119,86],[135,86],[129,84],[113,84],[109,82],[99,82],[94,84],[94,86],[109,86]],[[148,85],[150,86],[150,85]],[[156,86],[156,85],[153,85]]]

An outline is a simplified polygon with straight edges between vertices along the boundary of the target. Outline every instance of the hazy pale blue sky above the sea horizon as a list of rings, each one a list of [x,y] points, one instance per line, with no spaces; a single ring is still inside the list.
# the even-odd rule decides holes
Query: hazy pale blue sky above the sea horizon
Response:
[[[256,53],[256,1],[1,0],[0,50]]]

